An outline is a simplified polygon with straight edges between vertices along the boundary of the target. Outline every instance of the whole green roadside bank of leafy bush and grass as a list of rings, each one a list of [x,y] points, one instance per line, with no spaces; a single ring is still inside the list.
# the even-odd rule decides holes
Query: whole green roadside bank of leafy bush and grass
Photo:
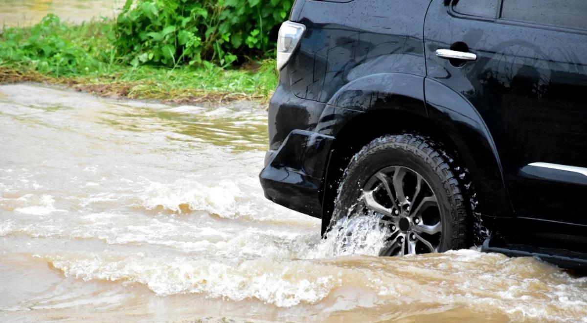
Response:
[[[275,37],[291,1],[129,0],[116,19],[47,15],[0,33],[0,83],[44,82],[177,103],[275,89]]]

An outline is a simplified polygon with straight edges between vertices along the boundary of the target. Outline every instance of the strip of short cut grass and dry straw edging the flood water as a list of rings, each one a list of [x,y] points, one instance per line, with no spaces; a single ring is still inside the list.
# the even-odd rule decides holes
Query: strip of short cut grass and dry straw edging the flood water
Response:
[[[26,65],[0,63],[0,84],[40,82],[70,86],[102,96],[182,104],[243,99],[265,101],[276,86],[274,66],[271,60],[262,62],[259,68],[234,70],[114,65],[108,73],[55,76]]]

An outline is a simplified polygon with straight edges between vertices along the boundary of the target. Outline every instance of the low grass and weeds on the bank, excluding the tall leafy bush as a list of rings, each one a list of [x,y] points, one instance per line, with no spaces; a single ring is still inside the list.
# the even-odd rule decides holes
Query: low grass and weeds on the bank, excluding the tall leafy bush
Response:
[[[210,63],[167,68],[118,57],[112,21],[66,25],[48,16],[0,34],[0,84],[41,82],[97,95],[174,103],[266,100],[275,89],[275,60],[222,69]]]

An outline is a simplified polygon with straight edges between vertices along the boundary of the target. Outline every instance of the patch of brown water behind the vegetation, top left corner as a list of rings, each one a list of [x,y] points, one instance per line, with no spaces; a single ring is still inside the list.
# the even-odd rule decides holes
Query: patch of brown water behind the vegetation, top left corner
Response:
[[[0,0],[0,28],[29,26],[47,14],[80,23],[100,16],[113,17],[124,0]]]

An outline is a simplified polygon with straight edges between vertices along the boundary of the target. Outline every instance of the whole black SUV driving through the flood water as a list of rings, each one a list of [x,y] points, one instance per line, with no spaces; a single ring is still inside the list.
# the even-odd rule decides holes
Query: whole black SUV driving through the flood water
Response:
[[[587,1],[297,0],[279,31],[265,196],[469,247],[587,264]],[[583,203],[585,199],[585,203]]]

